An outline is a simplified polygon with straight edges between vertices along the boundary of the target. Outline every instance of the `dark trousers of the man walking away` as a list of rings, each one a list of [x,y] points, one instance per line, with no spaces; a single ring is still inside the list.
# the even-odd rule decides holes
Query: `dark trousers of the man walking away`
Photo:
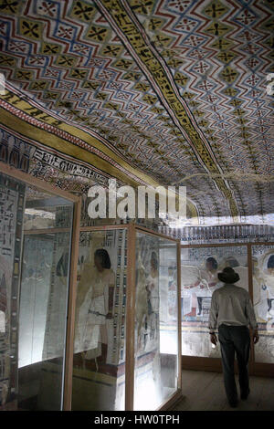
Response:
[[[224,371],[225,388],[229,403],[237,402],[237,386],[234,376],[235,352],[238,366],[238,382],[240,392],[248,394],[248,359],[250,350],[250,335],[246,326],[220,325],[218,338],[221,345],[222,365]]]

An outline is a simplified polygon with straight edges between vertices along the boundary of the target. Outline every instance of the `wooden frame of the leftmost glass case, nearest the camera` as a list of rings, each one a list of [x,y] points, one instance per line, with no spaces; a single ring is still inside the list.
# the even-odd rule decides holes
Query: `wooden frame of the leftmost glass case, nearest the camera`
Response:
[[[48,234],[71,231],[70,243],[70,259],[69,259],[69,277],[68,277],[68,313],[67,313],[67,330],[66,330],[66,352],[64,355],[64,390],[63,390],[63,410],[71,409],[71,392],[72,392],[72,370],[73,370],[73,340],[74,340],[74,319],[75,319],[75,303],[76,303],[76,288],[77,288],[77,260],[79,253],[79,225],[80,225],[80,210],[81,198],[67,191],[63,191],[52,184],[49,184],[41,179],[31,176],[30,174],[21,172],[14,167],[11,167],[4,162],[0,162],[0,173],[3,173],[11,178],[14,178],[26,185],[35,186],[38,190],[61,196],[71,203],[73,206],[72,229],[69,228],[48,228],[37,229],[23,232],[24,235],[32,234]]]

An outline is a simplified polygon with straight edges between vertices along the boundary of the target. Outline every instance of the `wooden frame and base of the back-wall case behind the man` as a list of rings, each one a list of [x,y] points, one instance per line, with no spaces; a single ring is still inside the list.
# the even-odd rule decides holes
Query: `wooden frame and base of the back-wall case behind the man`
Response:
[[[181,248],[208,248],[208,247],[232,247],[246,246],[248,256],[248,292],[253,302],[253,274],[252,274],[252,246],[274,246],[274,242],[252,242],[252,243],[219,243],[219,244],[203,244],[203,245],[181,245]],[[208,336],[209,341],[209,336]],[[255,350],[256,347],[251,341],[249,373],[251,375],[274,377],[274,363],[256,362]],[[221,358],[205,358],[199,356],[182,355],[182,369],[196,371],[222,371]],[[236,367],[237,369],[237,367]]]

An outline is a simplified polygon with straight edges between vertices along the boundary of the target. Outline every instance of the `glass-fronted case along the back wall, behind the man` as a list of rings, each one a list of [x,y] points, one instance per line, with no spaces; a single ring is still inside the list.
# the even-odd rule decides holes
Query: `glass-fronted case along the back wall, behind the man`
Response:
[[[212,293],[223,286],[217,273],[233,267],[236,286],[248,290],[258,322],[251,341],[249,373],[274,375],[274,243],[181,246],[182,361],[187,369],[221,371],[220,346],[212,349],[208,311]]]

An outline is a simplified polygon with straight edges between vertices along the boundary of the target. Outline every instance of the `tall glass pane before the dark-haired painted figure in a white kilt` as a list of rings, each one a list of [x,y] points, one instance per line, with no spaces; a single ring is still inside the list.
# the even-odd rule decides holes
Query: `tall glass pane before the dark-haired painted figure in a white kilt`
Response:
[[[73,410],[124,409],[126,233],[80,235]]]

